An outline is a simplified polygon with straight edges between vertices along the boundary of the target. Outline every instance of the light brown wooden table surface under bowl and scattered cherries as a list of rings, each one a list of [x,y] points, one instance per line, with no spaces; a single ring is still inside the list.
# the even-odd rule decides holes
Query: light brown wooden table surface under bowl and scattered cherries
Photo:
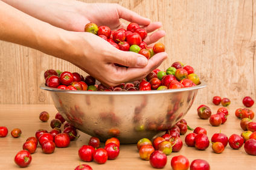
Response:
[[[220,106],[210,105],[213,113],[216,113]],[[188,125],[191,127],[204,127],[208,136],[214,133],[225,133],[228,137],[233,133],[240,135],[242,129],[240,128],[240,120],[235,115],[235,109],[241,106],[229,106],[229,117],[225,124],[219,127],[210,126],[208,120],[200,120],[196,114],[196,105],[190,109],[185,116]],[[255,108],[252,108],[255,111]],[[50,121],[42,123],[39,120],[39,114],[42,111],[50,113],[50,120],[54,118],[57,113],[53,105],[0,105],[0,126],[7,126],[9,132],[7,137],[0,138],[0,169],[19,169],[14,163],[13,159],[18,151],[22,150],[22,145],[25,140],[34,136],[37,129],[50,130]],[[20,138],[12,138],[10,132],[14,128],[20,128],[22,135]],[[56,148],[53,154],[44,154],[40,147],[37,148],[36,153],[32,155],[32,162],[26,169],[74,169],[77,165],[87,163],[93,169],[153,169],[149,161],[141,160],[139,158],[136,145],[121,145],[120,155],[116,160],[107,160],[103,165],[98,165],[95,162],[83,162],[78,157],[78,149],[85,144],[88,144],[90,136],[79,132],[80,138],[77,141],[71,142],[68,148]],[[190,133],[188,131],[187,133]],[[181,136],[184,142],[185,135]],[[101,144],[103,147],[103,144]],[[173,156],[184,155],[190,162],[194,159],[205,159],[210,163],[211,169],[255,169],[255,156],[250,156],[245,153],[244,148],[240,150],[232,150],[229,145],[225,148],[222,154],[213,153],[210,147],[205,151],[196,150],[193,147],[184,145],[179,153],[171,153],[168,156],[167,165],[164,169],[171,169],[170,160]]]

